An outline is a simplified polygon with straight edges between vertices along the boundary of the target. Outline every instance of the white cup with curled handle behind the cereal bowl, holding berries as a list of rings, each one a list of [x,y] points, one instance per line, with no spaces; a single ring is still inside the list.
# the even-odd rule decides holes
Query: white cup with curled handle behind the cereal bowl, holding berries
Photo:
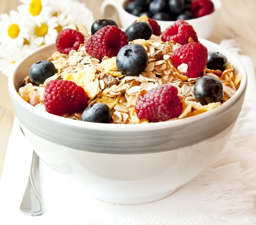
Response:
[[[109,18],[113,14],[113,9],[118,12],[118,17],[120,20],[120,25],[122,28],[130,26],[138,17],[132,15],[124,10],[124,6],[127,4],[127,0],[105,0],[101,5],[101,16]],[[221,12],[222,2],[221,0],[212,0],[214,3],[215,11],[195,19],[187,20],[190,25],[192,25],[197,33],[197,36],[202,39],[208,39],[210,35],[214,32],[217,21],[219,18],[219,13]],[[173,24],[175,21],[163,21],[157,20],[161,26],[161,30],[165,30],[166,27]]]

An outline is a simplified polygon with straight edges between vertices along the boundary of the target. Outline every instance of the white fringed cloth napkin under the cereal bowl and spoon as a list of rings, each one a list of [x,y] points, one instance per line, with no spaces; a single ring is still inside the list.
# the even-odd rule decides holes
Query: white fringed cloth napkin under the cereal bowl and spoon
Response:
[[[76,180],[40,161],[45,213],[19,211],[32,157],[32,147],[15,120],[0,179],[0,224],[256,224],[255,68],[239,55],[232,40],[222,42],[244,63],[248,91],[230,140],[217,161],[170,196],[141,205],[115,205],[90,197]]]

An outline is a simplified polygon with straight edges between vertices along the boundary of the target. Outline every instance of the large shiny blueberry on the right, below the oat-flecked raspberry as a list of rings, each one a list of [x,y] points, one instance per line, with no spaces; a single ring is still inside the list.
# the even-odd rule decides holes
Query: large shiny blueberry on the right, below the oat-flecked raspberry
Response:
[[[222,101],[223,94],[221,81],[211,75],[199,78],[194,86],[195,100],[202,105]]]

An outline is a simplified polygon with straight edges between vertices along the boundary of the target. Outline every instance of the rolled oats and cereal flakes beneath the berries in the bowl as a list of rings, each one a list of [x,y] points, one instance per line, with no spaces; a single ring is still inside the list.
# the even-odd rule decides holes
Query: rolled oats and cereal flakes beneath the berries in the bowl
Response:
[[[81,28],[81,27],[80,27]],[[83,31],[85,32],[85,31]],[[134,109],[137,98],[150,89],[162,84],[172,84],[177,87],[178,96],[183,104],[180,118],[200,114],[218,107],[221,102],[202,106],[193,96],[194,84],[198,78],[188,78],[182,74],[188,68],[182,64],[176,69],[170,61],[170,55],[181,45],[173,41],[162,42],[158,36],[152,35],[150,40],[138,39],[131,43],[141,44],[148,53],[148,65],[139,76],[125,76],[118,71],[116,57],[104,57],[102,62],[86,53],[84,46],[78,51],[70,51],[69,55],[55,52],[49,60],[58,69],[58,74],[52,79],[72,80],[82,86],[89,97],[88,104],[103,102],[112,111],[113,123],[148,123],[147,119],[139,119]],[[223,102],[228,100],[237,90],[241,74],[235,74],[231,64],[225,71],[205,69],[204,74],[218,76],[224,87]],[[44,109],[44,86],[33,87],[27,80],[25,86],[19,89],[24,100],[29,101],[33,92],[39,92],[41,99],[38,108]],[[81,113],[66,115],[68,118],[81,119]]]

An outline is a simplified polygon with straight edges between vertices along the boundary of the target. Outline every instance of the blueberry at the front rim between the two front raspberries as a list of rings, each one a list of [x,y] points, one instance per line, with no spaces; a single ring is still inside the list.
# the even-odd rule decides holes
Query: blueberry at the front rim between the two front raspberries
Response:
[[[83,111],[81,120],[94,123],[108,123],[111,117],[111,110],[108,105],[95,103]]]

